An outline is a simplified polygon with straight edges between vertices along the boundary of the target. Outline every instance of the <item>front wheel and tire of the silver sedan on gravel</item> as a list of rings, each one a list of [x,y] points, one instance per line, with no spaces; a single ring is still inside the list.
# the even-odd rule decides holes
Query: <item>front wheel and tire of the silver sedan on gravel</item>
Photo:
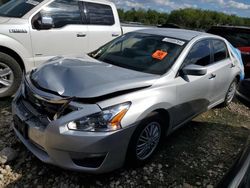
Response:
[[[149,147],[148,150],[144,150],[144,154],[142,152],[143,142],[145,142],[143,138],[145,138],[146,130],[150,132],[150,128],[153,128],[155,137],[151,137],[151,142],[148,142],[148,145],[143,145],[144,148],[147,146]],[[147,163],[155,152],[159,149],[163,138],[165,137],[165,128],[164,128],[164,121],[159,116],[158,113],[150,114],[145,120],[143,120],[138,127],[136,128],[132,138],[130,140],[127,156],[126,156],[126,163],[129,166],[142,166]],[[152,132],[153,133],[153,132]],[[156,136],[157,135],[157,136]],[[155,142],[153,141],[155,139]],[[144,143],[145,144],[145,143]],[[150,150],[151,147],[151,150]]]

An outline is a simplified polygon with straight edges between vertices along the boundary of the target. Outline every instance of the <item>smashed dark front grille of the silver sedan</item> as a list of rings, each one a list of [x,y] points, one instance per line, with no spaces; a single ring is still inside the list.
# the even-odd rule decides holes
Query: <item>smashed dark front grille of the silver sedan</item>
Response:
[[[78,110],[78,107],[70,104],[71,101],[72,98],[38,90],[27,75],[12,103],[14,128],[24,139],[29,139],[32,137],[30,127],[45,130],[51,122]],[[36,142],[34,139],[34,143]]]

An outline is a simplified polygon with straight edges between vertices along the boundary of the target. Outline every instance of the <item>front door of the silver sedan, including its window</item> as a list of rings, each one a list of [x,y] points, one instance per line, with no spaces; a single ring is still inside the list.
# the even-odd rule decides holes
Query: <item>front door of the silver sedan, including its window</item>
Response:
[[[209,40],[194,44],[182,67],[190,64],[207,68],[202,76],[182,75],[176,77],[177,106],[173,109],[175,126],[205,111],[213,100],[214,78],[211,64],[211,45]]]

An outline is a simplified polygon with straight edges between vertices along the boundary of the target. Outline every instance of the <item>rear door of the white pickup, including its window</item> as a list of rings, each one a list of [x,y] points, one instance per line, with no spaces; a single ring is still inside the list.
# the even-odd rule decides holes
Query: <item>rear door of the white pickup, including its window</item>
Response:
[[[88,52],[98,49],[122,34],[115,7],[102,3],[82,3],[88,24]]]

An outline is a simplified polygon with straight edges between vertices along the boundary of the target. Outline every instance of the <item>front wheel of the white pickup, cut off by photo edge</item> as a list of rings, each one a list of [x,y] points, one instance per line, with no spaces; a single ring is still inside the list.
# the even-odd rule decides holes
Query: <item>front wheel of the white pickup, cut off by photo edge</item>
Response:
[[[22,81],[22,70],[17,61],[0,52],[0,97],[12,96]]]

